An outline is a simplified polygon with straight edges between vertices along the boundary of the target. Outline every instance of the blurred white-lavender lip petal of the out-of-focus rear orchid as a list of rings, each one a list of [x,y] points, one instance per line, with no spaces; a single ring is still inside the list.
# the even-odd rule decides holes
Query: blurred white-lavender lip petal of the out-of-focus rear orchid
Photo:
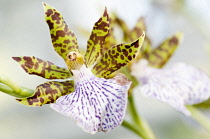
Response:
[[[188,116],[190,112],[185,105],[197,104],[210,97],[209,77],[184,63],[168,69],[156,69],[141,60],[133,66],[132,75],[140,81],[139,89],[143,95],[166,102]]]

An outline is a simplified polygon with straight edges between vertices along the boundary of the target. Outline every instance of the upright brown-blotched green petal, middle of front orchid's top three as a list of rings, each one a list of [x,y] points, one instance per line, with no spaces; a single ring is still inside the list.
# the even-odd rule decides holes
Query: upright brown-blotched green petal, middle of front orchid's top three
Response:
[[[105,38],[109,32],[109,16],[105,9],[103,16],[95,23],[87,42],[85,62],[87,67],[92,66],[101,55]]]

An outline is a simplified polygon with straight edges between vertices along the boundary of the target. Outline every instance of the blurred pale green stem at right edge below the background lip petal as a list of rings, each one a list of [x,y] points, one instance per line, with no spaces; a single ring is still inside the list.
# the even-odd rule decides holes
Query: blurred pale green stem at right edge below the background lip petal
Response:
[[[188,110],[191,112],[191,116],[200,125],[202,125],[210,134],[210,119],[205,117],[197,108],[194,106],[187,106]]]

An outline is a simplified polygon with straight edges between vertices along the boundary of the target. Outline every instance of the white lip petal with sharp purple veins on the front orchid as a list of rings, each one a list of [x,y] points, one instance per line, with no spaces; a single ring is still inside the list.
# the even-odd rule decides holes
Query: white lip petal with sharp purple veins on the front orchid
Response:
[[[123,74],[104,79],[95,77],[89,70],[75,84],[75,92],[51,104],[54,110],[72,117],[91,134],[108,132],[122,123],[131,84]]]

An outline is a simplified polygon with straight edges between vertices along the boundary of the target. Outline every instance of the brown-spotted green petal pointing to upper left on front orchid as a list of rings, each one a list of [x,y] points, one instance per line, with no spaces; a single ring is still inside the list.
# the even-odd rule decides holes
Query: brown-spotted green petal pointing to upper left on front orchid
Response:
[[[61,13],[50,5],[43,3],[45,20],[49,26],[55,51],[63,58],[70,51],[78,52],[77,38],[68,28]]]

